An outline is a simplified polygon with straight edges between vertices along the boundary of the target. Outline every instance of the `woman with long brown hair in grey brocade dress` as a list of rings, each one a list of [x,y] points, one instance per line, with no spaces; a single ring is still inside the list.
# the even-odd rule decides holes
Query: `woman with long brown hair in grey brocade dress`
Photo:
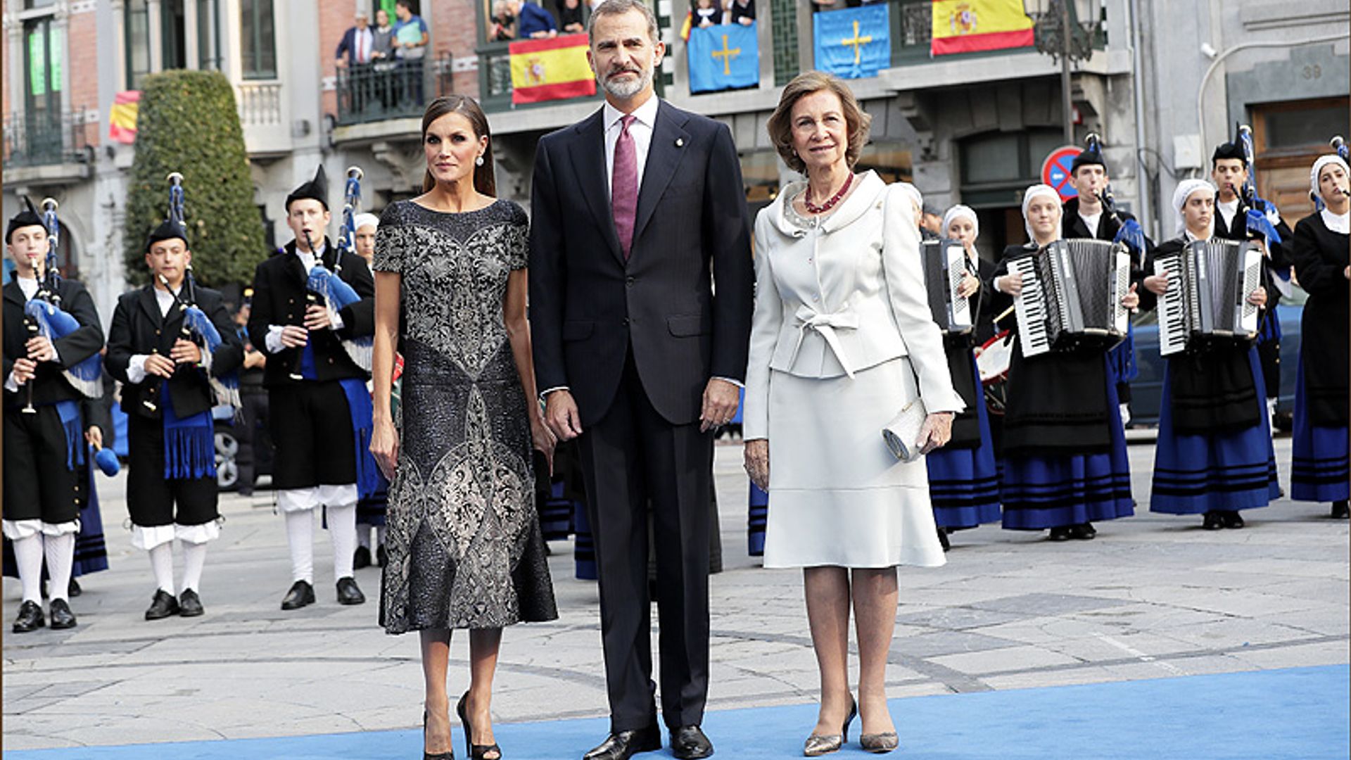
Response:
[[[440,97],[423,116],[423,147],[424,195],[385,208],[376,239],[370,449],[390,479],[380,622],[420,632],[428,757],[451,756],[450,630],[469,629],[470,686],[457,713],[470,757],[493,759],[501,629],[558,617],[531,476],[531,448],[551,457],[554,438],[527,402],[527,219],[493,197],[488,119],[467,97]]]

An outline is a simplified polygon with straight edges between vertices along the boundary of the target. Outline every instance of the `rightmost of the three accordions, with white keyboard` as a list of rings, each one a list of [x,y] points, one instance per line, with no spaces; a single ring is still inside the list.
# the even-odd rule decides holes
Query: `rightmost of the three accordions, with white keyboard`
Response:
[[[1248,293],[1262,283],[1262,252],[1252,243],[1194,241],[1156,257],[1154,273],[1169,276],[1169,289],[1159,296],[1162,356],[1256,337],[1258,307],[1248,303]]]

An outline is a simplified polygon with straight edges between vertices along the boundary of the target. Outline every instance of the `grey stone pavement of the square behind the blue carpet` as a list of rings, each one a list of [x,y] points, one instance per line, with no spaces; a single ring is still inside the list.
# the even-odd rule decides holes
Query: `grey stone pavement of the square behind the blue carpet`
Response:
[[[1288,484],[1289,438],[1277,441],[1277,457]],[[902,569],[889,694],[1347,663],[1347,522],[1329,519],[1327,504],[1285,499],[1244,513],[1244,530],[1154,515],[1152,458],[1152,445],[1131,446],[1142,507],[1100,523],[1096,541],[1051,544],[1044,533],[985,526],[952,537],[946,567]],[[716,475],[727,569],[712,579],[709,709],[812,702],[801,575],[746,556],[739,445],[719,446]],[[146,622],[154,588],[149,561],[120,527],[123,481],[100,480],[112,569],[82,579],[78,627],[8,633],[19,586],[4,581],[4,749],[416,725],[417,640],[376,625],[378,568],[358,571],[366,604],[339,606],[317,531],[319,603],[284,613],[289,560],[270,494],[228,495],[201,588],[207,614]],[[574,579],[570,542],[553,549],[561,618],[507,632],[499,722],[607,711],[596,586]],[[467,679],[463,636],[453,657],[457,694]]]

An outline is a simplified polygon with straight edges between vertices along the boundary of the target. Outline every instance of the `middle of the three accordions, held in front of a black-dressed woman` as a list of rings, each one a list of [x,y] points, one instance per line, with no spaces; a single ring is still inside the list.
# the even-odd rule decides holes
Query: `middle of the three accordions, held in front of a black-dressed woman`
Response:
[[[1023,356],[1109,349],[1125,338],[1131,314],[1131,254],[1108,241],[1055,241],[1009,260],[1023,276],[1013,299]]]

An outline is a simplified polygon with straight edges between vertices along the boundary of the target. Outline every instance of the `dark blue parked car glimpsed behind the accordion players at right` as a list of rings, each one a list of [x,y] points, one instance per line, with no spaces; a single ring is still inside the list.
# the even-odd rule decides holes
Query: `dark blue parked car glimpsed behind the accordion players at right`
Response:
[[[1275,404],[1275,426],[1290,430],[1294,412],[1294,380],[1300,362],[1300,319],[1308,293],[1293,288],[1293,298],[1282,298],[1275,312],[1281,319],[1281,395]],[[1131,381],[1131,425],[1159,423],[1159,399],[1163,394],[1163,357],[1159,356],[1158,311],[1135,319],[1135,362],[1140,375]]]

